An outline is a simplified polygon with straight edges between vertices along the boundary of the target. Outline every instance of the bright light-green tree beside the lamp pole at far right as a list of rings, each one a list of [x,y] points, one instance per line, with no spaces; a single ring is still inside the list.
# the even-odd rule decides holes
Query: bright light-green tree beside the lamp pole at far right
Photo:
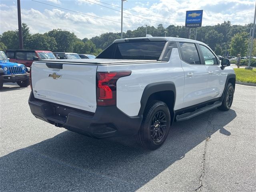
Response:
[[[234,35],[234,37],[231,38],[230,43],[230,55],[236,56],[237,54],[240,54],[241,56],[244,56],[247,51],[247,33],[237,33]]]

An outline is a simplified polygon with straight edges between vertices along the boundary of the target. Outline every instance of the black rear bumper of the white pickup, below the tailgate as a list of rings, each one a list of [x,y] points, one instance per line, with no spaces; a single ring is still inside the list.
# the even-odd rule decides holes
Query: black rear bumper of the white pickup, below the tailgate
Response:
[[[93,138],[135,135],[142,122],[142,115],[127,116],[116,106],[97,106],[91,113],[38,100],[32,92],[28,104],[36,118]]]

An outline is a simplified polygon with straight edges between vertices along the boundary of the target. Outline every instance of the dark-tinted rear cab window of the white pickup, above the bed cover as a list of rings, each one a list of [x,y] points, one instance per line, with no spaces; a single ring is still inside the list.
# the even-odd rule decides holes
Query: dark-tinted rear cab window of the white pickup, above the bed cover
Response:
[[[110,45],[96,58],[159,60],[166,41],[124,42]]]

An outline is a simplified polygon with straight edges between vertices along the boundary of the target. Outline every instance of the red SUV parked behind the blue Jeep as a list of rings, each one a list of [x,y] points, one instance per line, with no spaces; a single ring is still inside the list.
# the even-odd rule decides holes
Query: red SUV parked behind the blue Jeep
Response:
[[[38,59],[56,59],[51,51],[42,50],[6,50],[6,56],[10,59],[10,62],[24,64],[26,67],[32,65],[34,57],[38,57]]]

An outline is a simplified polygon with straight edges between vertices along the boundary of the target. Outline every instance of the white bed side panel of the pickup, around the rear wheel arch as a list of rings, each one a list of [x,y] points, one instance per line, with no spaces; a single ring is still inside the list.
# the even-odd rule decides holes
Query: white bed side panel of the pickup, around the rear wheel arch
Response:
[[[174,48],[169,62],[132,64],[132,65],[102,65],[100,72],[132,70],[132,74],[117,81],[116,106],[128,116],[137,116],[140,110],[140,100],[145,87],[156,82],[174,82],[176,87],[176,102],[174,109],[183,105],[184,71],[181,68],[178,49]]]

